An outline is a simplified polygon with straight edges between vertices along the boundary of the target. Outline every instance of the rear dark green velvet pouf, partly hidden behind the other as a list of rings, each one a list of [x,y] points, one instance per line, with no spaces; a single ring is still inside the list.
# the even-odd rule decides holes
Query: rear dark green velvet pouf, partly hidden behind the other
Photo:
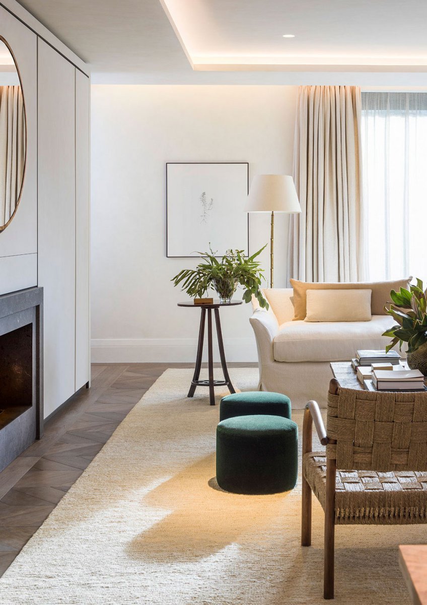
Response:
[[[269,391],[246,391],[222,397],[219,406],[219,419],[226,420],[234,416],[283,416],[291,418],[291,399],[281,393]]]

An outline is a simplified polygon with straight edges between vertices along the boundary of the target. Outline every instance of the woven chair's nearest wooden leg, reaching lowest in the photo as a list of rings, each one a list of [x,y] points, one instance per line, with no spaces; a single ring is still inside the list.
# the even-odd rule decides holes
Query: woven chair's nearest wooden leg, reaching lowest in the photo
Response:
[[[323,597],[325,599],[333,599],[335,572],[335,478],[336,462],[335,460],[327,460],[323,577]]]

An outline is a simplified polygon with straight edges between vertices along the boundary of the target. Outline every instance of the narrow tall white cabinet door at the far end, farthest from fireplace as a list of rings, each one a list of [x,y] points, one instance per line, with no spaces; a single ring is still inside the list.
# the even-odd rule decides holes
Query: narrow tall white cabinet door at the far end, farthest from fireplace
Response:
[[[89,381],[89,78],[75,70],[75,390]]]

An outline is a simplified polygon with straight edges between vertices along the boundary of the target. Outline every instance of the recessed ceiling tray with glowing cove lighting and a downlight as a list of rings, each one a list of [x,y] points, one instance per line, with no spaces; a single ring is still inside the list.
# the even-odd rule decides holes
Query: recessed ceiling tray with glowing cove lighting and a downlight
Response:
[[[427,70],[424,1],[161,2],[194,69]]]

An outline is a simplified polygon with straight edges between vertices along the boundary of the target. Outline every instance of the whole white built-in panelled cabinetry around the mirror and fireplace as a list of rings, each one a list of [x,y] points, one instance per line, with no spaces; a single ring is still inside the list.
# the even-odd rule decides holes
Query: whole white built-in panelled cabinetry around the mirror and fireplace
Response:
[[[0,233],[0,294],[42,286],[45,417],[89,381],[89,77],[14,0],[0,35],[21,71],[28,155],[21,202]]]

